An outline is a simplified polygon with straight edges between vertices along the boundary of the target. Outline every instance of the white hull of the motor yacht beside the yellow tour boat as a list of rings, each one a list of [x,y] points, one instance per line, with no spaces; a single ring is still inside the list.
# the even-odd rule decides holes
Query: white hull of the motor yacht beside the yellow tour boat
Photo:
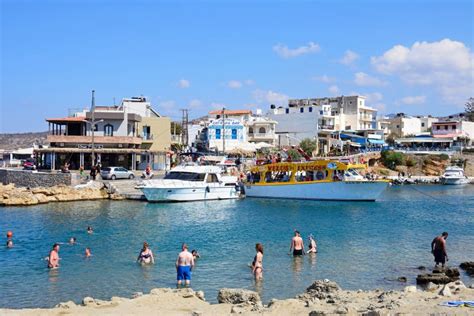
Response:
[[[187,188],[142,187],[141,190],[149,202],[228,200],[238,199],[240,197],[239,192],[234,186]]]

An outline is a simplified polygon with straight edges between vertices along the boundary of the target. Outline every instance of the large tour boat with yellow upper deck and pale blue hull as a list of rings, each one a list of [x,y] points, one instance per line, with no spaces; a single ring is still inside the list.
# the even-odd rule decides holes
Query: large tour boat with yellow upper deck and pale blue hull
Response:
[[[323,160],[255,166],[247,179],[245,195],[297,200],[377,200],[389,181],[365,179],[357,169],[366,166]]]

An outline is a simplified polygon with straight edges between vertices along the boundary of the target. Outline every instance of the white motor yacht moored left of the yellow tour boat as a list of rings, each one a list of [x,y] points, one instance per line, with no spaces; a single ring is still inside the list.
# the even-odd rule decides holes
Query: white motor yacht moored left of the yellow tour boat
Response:
[[[163,179],[145,180],[137,186],[150,202],[187,202],[237,199],[237,177],[224,176],[217,166],[182,165]]]

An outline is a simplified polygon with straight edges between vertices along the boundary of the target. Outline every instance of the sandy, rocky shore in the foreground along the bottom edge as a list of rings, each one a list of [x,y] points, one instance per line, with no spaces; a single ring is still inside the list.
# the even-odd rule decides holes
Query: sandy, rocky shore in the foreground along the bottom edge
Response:
[[[132,298],[112,297],[103,301],[86,297],[50,309],[0,309],[2,315],[472,315],[471,307],[447,307],[447,301],[472,301],[474,288],[461,281],[433,284],[422,291],[407,286],[403,291],[345,291],[329,280],[314,281],[304,293],[291,299],[273,299],[264,305],[258,293],[243,289],[221,289],[219,304],[209,304],[202,291],[153,289]]]

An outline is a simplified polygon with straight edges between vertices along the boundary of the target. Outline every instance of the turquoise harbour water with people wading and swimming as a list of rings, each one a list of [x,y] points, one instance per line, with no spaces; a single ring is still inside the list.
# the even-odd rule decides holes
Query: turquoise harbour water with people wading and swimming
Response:
[[[88,235],[86,227],[94,227]],[[318,240],[317,256],[293,259],[293,229]],[[391,187],[380,202],[313,202],[246,199],[179,204],[133,201],[53,203],[0,209],[15,247],[0,247],[0,307],[48,307],[85,296],[109,299],[155,287],[174,287],[180,244],[202,258],[192,287],[215,301],[222,287],[258,290],[264,301],[301,293],[313,280],[328,278],[347,289],[401,288],[388,281],[433,265],[430,242],[446,230],[451,265],[474,260],[474,185]],[[62,245],[61,267],[48,271],[54,242]],[[148,241],[157,263],[135,259]],[[249,263],[262,242],[264,280],[255,284]],[[93,257],[84,259],[85,247]],[[472,283],[466,275],[466,282]]]

